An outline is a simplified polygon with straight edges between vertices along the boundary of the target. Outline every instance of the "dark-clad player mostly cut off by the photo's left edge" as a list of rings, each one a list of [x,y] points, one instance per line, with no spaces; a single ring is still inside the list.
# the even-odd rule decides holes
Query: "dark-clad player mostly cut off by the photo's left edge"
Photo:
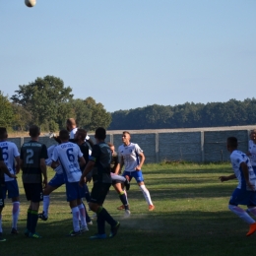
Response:
[[[10,178],[16,178],[16,175],[11,173],[6,166],[3,158],[3,152],[2,148],[0,148],[0,242],[6,241],[6,239],[3,237],[3,229],[2,229],[2,211],[5,206],[4,202],[4,194],[2,190],[2,186],[5,182],[5,176],[4,173],[7,174]]]

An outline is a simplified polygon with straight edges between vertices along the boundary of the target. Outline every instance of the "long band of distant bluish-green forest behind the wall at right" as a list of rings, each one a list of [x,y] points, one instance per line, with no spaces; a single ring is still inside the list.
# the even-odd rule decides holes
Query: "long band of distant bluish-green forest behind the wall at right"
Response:
[[[109,130],[218,127],[256,124],[256,98],[243,101],[149,105],[111,113]]]

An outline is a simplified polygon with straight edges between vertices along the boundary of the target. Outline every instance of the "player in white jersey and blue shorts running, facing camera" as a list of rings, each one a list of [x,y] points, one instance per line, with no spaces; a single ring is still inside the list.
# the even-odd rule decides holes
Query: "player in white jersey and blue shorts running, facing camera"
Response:
[[[153,211],[155,206],[152,203],[149,190],[146,188],[142,175],[142,165],[145,161],[143,151],[138,144],[131,143],[131,135],[124,131],[122,135],[123,145],[118,148],[119,163],[116,166],[115,173],[120,171],[120,167],[124,164],[123,176],[129,181],[134,177],[139,185],[148,205],[149,211]],[[124,209],[124,206],[118,207],[118,210]]]

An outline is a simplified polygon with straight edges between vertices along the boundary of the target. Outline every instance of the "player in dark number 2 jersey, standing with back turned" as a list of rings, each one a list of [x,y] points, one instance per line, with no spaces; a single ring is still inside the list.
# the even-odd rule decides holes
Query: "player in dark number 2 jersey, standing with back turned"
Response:
[[[27,229],[25,235],[32,238],[41,236],[35,232],[38,221],[38,210],[42,201],[42,184],[47,185],[47,172],[45,160],[47,157],[46,146],[40,143],[40,130],[36,125],[30,127],[31,141],[24,143],[21,149],[21,168],[23,170],[23,184],[30,206],[27,215]],[[43,175],[43,180],[41,175]]]

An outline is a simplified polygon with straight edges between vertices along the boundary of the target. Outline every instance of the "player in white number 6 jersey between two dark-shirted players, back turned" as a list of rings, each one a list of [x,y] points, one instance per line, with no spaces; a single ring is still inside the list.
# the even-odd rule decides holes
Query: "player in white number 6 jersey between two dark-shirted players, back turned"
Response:
[[[88,230],[86,222],[86,210],[82,204],[82,198],[85,195],[84,187],[79,186],[80,177],[82,175],[80,166],[86,164],[83,154],[77,144],[69,142],[69,133],[67,130],[59,132],[61,144],[58,145],[52,155],[51,166],[53,168],[62,166],[65,183],[67,201],[73,215],[73,230],[68,236],[75,236]],[[79,225],[79,217],[81,227]]]

